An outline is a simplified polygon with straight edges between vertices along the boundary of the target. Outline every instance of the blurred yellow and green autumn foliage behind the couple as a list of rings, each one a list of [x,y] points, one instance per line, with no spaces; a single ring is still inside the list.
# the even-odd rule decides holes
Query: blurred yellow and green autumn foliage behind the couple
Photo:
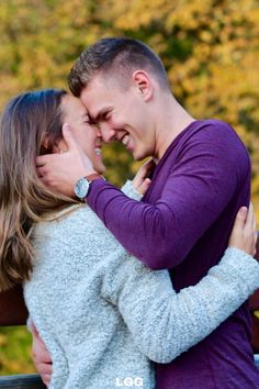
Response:
[[[194,118],[235,127],[252,159],[259,216],[258,0],[1,0],[0,110],[25,90],[67,88],[79,54],[113,35],[139,38],[160,55],[173,93]],[[138,167],[116,144],[104,158],[115,185]],[[0,329],[0,375],[34,371],[30,343],[24,327]]]

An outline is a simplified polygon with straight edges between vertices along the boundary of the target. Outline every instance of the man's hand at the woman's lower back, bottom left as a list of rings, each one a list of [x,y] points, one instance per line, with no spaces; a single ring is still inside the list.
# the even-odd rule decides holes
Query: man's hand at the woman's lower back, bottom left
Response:
[[[33,335],[33,345],[32,345],[32,357],[34,365],[40,373],[43,382],[48,386],[52,379],[53,365],[50,354],[48,353],[45,343],[40,337],[37,329],[34,323],[31,326]]]

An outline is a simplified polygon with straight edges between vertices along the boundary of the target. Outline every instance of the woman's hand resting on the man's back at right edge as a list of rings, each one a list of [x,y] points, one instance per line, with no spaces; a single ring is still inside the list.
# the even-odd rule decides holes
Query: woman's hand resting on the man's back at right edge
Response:
[[[256,215],[252,205],[250,204],[249,210],[246,207],[241,207],[237,212],[228,246],[237,247],[255,256],[256,244]]]

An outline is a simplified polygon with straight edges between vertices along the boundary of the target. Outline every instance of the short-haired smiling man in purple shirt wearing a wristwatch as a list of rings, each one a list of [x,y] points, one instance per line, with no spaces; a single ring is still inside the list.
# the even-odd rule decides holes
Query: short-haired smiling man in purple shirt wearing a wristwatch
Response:
[[[177,290],[196,284],[219,260],[237,210],[249,203],[245,146],[228,124],[194,120],[171,95],[160,59],[138,41],[97,42],[76,62],[69,87],[104,142],[117,140],[135,159],[156,160],[153,182],[143,202],[126,198],[80,147],[69,146],[69,135],[67,153],[38,157],[40,175],[65,194],[76,188],[126,249],[153,269],[171,270]],[[157,366],[158,389],[258,382],[247,304],[177,360]]]

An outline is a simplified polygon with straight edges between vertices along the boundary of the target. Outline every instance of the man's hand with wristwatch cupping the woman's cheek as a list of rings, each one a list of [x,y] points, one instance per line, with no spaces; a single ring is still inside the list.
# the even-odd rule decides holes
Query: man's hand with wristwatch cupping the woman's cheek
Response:
[[[38,156],[37,173],[38,177],[56,192],[74,197],[78,179],[95,171],[66,123],[63,125],[63,136],[67,144],[67,152]]]

